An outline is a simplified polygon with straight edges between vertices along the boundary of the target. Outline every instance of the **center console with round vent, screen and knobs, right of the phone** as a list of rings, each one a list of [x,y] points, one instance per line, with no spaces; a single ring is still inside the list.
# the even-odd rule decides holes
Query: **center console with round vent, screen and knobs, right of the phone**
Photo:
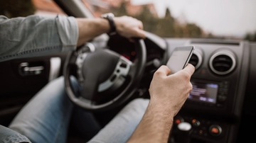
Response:
[[[247,81],[246,43],[189,40],[183,45],[196,46],[190,61],[196,70],[191,77],[193,89],[174,118],[169,142],[235,142]],[[178,126],[183,122],[188,123],[186,130]]]

